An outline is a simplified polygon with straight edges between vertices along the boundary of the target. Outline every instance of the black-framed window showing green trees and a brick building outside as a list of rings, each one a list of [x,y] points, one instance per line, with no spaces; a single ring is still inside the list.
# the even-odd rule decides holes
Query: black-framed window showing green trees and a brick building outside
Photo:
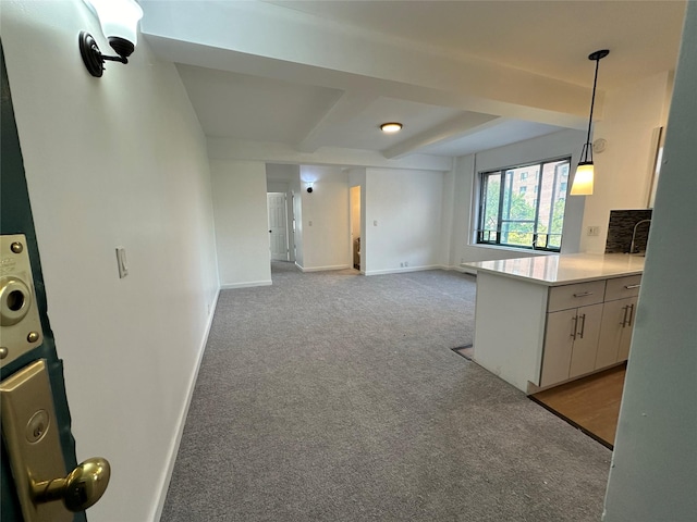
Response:
[[[477,243],[559,252],[570,162],[564,158],[479,173]]]

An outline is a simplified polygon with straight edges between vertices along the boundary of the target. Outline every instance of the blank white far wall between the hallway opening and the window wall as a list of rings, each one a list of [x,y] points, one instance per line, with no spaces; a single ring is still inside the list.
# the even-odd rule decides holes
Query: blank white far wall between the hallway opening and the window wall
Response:
[[[440,172],[366,169],[366,275],[443,264],[443,178]]]

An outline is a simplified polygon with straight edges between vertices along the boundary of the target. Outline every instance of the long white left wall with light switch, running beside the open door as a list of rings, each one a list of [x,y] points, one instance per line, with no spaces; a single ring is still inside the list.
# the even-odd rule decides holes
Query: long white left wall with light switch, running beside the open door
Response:
[[[89,520],[155,520],[218,290],[206,141],[145,42],[87,73],[78,32],[109,46],[82,1],[7,0],[1,22],[77,458],[112,464]]]

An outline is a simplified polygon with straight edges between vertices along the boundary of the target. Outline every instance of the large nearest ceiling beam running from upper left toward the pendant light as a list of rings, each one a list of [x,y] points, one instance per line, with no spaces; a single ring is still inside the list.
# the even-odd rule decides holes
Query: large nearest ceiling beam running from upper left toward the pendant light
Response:
[[[588,111],[586,87],[318,23],[279,5],[209,1],[201,9],[199,2],[144,1],[143,8],[144,36],[173,62],[342,90],[365,89],[370,82],[382,96],[555,125],[564,123],[543,119],[583,120]]]

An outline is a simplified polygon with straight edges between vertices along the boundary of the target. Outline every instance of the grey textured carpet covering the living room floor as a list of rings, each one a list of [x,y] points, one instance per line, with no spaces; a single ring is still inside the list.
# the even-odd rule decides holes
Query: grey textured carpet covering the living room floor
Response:
[[[161,520],[600,520],[611,452],[452,351],[474,277],[356,274],[221,293]]]

